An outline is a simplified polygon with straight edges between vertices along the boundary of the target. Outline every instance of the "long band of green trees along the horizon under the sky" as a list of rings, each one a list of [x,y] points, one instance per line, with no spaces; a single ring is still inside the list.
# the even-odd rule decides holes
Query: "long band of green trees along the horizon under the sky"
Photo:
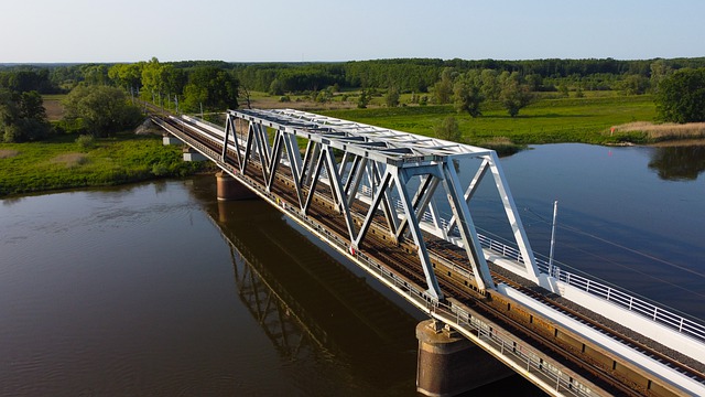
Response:
[[[181,111],[217,111],[237,108],[240,101],[249,105],[252,90],[272,95],[312,93],[312,97],[324,99],[337,92],[356,90],[359,107],[366,107],[371,95],[380,90],[390,107],[399,106],[400,94],[411,93],[413,103],[454,104],[458,112],[478,117],[485,100],[499,101],[510,116],[517,116],[538,92],[567,96],[571,90],[579,97],[584,90],[611,89],[626,95],[653,93],[663,120],[685,122],[705,119],[701,105],[703,69],[705,57],[339,63],[164,63],[153,57],[126,64],[0,65],[0,133],[6,141],[46,136],[50,130],[41,94],[69,92],[69,117],[83,119],[84,127],[98,136],[127,122],[115,120],[134,119],[133,109],[127,107],[130,117],[113,115],[110,122],[91,120],[96,116],[89,110],[90,104],[101,100],[124,103],[140,97]]]

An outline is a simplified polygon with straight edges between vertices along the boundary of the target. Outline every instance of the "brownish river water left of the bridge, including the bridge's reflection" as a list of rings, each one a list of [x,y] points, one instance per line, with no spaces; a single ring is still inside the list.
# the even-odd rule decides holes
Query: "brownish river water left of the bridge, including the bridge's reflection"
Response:
[[[415,395],[422,313],[214,197],[207,176],[3,201],[0,396]]]

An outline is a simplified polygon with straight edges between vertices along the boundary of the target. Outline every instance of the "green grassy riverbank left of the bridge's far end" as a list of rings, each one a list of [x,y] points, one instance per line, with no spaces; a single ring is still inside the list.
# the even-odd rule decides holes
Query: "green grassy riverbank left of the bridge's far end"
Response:
[[[76,139],[0,143],[0,196],[186,175],[204,167],[184,162],[181,148],[162,146],[158,136],[120,133],[89,149]]]

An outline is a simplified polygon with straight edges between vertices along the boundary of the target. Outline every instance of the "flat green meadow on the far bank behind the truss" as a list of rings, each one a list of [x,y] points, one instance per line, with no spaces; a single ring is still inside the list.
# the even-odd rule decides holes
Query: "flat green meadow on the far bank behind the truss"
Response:
[[[649,95],[596,96],[540,99],[509,117],[498,103],[485,103],[482,116],[473,119],[457,114],[452,105],[398,108],[324,110],[324,115],[424,136],[445,117],[458,121],[464,139],[482,144],[507,138],[517,144],[584,142],[617,143],[642,141],[641,133],[610,136],[610,127],[637,120],[653,120],[655,106]]]

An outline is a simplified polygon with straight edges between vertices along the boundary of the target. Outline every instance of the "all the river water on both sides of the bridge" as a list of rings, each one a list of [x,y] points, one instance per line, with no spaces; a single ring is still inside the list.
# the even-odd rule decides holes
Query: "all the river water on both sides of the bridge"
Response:
[[[704,158],[556,144],[502,163],[536,251],[558,200],[556,259],[703,318]],[[415,395],[423,314],[214,182],[1,201],[0,395]],[[474,217],[502,235],[490,187]]]

